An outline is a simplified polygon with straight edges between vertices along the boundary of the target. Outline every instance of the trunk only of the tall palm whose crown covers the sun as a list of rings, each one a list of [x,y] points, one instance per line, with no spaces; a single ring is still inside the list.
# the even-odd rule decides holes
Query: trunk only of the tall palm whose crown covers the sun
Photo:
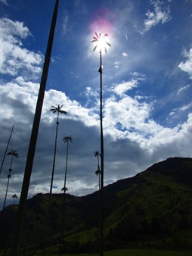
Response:
[[[102,55],[100,51],[100,125],[101,125],[101,198],[100,198],[100,256],[104,255],[104,134],[102,95]]]

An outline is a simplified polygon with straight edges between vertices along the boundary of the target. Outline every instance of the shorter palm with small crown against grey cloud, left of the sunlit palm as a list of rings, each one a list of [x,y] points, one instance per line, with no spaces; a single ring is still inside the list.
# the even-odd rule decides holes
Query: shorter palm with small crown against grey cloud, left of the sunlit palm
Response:
[[[58,255],[60,256],[60,249],[61,249],[61,239],[63,237],[63,230],[64,230],[64,217],[65,217],[65,194],[67,192],[67,186],[66,186],[66,183],[67,183],[67,165],[68,165],[68,154],[69,154],[69,142],[73,143],[73,138],[72,136],[65,136],[63,138],[63,142],[67,142],[67,152],[66,152],[66,165],[65,165],[65,176],[64,176],[64,186],[63,186],[63,189],[61,189],[61,191],[63,191],[63,212],[62,212],[62,220],[61,220],[61,226],[60,226],[60,246],[59,246],[59,253]]]

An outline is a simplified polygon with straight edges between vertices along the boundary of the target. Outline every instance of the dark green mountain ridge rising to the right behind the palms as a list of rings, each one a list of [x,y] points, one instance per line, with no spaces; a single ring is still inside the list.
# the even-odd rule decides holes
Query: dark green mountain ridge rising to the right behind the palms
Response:
[[[38,194],[27,200],[21,245],[94,252],[99,248],[99,192],[76,197]],[[17,205],[0,212],[0,247],[10,247]],[[63,217],[63,229],[61,229]],[[104,245],[116,248],[192,249],[192,158],[168,158],[104,188]]]

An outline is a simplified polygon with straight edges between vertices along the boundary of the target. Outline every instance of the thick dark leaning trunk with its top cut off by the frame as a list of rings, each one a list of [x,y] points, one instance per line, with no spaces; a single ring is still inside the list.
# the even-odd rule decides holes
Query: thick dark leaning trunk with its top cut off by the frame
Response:
[[[40,123],[41,114],[42,114],[42,105],[43,105],[45,88],[46,88],[46,83],[48,78],[48,67],[51,59],[51,50],[52,50],[52,45],[54,40],[54,30],[55,30],[55,25],[57,20],[58,3],[59,3],[59,0],[56,0],[55,6],[54,6],[54,13],[51,21],[51,29],[50,29],[49,38],[48,38],[48,46],[47,46],[44,66],[42,70],[42,79],[39,87],[39,95],[36,103],[36,113],[33,121],[33,129],[31,133],[29,149],[28,149],[28,154],[26,158],[26,167],[25,167],[25,172],[23,177],[23,186],[20,194],[20,204],[19,204],[18,214],[17,214],[17,223],[14,231],[13,244],[11,247],[11,256],[17,256],[19,251],[20,233],[23,225],[26,199],[27,199],[28,190],[29,190],[30,177],[33,169],[33,159],[35,156],[36,142],[37,142],[37,137],[39,133],[39,123]]]

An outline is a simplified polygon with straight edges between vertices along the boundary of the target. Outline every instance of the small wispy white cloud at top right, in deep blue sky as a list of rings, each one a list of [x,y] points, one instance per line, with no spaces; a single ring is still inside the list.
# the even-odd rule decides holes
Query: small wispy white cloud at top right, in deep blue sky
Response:
[[[162,24],[167,23],[170,17],[170,9],[163,6],[163,2],[157,0],[150,0],[151,5],[154,7],[154,11],[147,11],[147,19],[144,20],[144,30],[142,33],[147,32],[151,27],[156,26],[159,22]]]

